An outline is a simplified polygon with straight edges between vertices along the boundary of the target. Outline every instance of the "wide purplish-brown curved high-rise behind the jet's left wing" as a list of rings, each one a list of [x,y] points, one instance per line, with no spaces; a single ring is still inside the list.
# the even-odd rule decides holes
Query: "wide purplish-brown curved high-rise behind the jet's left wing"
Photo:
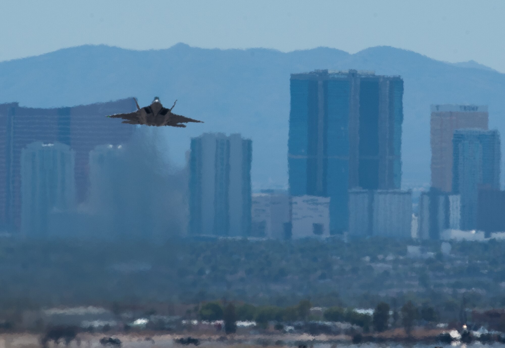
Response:
[[[131,125],[105,117],[136,110],[133,98],[54,109],[0,105],[0,223],[21,224],[21,150],[33,142],[62,143],[75,152],[76,198],[84,201],[89,186],[88,154],[101,144],[122,144]],[[3,136],[2,136],[3,135]],[[3,157],[5,156],[5,157]]]

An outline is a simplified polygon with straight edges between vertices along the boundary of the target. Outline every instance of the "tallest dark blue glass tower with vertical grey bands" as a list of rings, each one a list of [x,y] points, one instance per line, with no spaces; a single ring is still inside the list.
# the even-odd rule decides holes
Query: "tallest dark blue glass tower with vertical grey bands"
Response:
[[[399,189],[403,80],[366,71],[291,74],[289,192],[331,197],[332,234],[348,228],[348,190]]]

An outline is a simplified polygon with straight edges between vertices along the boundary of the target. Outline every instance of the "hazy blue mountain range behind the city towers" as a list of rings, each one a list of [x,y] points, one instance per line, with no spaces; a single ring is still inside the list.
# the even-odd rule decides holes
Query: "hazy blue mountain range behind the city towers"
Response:
[[[206,123],[160,130],[175,163],[184,164],[190,137],[209,131],[241,133],[253,141],[253,188],[283,187],[289,75],[314,69],[364,69],[403,77],[404,187],[430,181],[431,104],[489,105],[490,128],[505,134],[505,74],[475,62],[444,63],[391,47],[351,55],[328,48],[282,53],[184,44],[151,51],[81,46],[0,63],[0,102],[54,107],[136,96],[142,106],[159,96],[170,107],[178,99],[174,112]]]

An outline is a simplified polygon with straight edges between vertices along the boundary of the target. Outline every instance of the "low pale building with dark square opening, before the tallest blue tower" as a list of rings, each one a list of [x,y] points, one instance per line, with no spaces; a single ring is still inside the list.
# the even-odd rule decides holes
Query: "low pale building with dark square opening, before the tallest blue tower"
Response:
[[[291,197],[291,238],[330,236],[330,198]]]

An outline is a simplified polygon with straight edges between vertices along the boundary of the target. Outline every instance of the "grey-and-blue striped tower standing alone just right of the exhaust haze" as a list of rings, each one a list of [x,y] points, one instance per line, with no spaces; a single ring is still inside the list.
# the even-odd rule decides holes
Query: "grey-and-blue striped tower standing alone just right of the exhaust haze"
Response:
[[[191,139],[189,233],[249,236],[252,142],[239,134]]]

